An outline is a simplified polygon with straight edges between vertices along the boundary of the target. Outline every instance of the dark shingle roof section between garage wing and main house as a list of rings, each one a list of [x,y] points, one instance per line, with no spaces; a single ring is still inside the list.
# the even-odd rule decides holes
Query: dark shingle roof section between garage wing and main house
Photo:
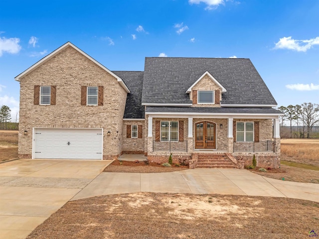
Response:
[[[144,119],[142,105],[143,71],[112,71],[120,76],[131,93],[128,94],[125,105],[125,119]]]

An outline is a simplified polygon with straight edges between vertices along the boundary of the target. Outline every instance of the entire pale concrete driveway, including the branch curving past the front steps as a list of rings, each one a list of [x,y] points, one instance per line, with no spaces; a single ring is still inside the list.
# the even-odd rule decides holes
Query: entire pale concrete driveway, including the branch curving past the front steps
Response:
[[[319,202],[319,184],[239,169],[101,173],[112,161],[15,160],[0,164],[0,239],[24,239],[70,200],[157,192],[288,197]]]

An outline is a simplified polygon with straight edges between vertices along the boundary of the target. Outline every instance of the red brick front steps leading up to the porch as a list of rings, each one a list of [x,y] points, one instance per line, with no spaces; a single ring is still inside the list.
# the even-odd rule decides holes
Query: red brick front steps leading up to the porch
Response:
[[[191,168],[235,169],[237,160],[228,153],[193,153]]]

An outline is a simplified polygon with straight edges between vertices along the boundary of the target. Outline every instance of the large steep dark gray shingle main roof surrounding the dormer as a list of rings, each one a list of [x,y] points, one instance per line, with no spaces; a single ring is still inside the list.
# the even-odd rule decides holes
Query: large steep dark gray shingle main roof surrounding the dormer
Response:
[[[227,92],[222,104],[277,105],[250,59],[146,57],[142,103],[191,104],[185,91],[208,71]]]

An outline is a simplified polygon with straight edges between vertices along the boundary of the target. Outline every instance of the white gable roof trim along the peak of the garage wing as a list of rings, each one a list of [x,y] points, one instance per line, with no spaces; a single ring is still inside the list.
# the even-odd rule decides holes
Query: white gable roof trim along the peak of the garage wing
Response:
[[[80,52],[82,55],[84,55],[85,57],[89,58],[91,61],[93,61],[95,64],[97,64],[98,66],[100,66],[102,69],[104,69],[105,71],[107,71],[109,74],[111,74],[112,76],[114,76],[117,81],[120,83],[120,85],[125,89],[126,92],[130,93],[129,88],[125,85],[125,83],[123,82],[123,80],[121,79],[121,77],[117,76],[116,74],[114,74],[112,71],[110,71],[108,68],[106,68],[104,65],[102,65],[100,62],[98,62],[97,60],[93,59],[91,56],[89,56],[88,54],[86,54],[84,51],[82,51],[80,48],[76,47],[75,45],[73,45],[71,42],[66,42],[64,45],[60,46],[59,48],[57,48],[56,50],[52,51],[50,54],[48,54],[47,56],[43,57],[41,60],[39,60],[38,62],[36,62],[35,64],[33,64],[31,67],[29,67],[28,69],[26,69],[25,71],[23,71],[22,73],[20,73],[19,75],[15,76],[14,79],[17,81],[20,81],[20,78],[23,77],[24,75],[30,73],[32,70],[34,70],[35,68],[37,68],[38,66],[40,66],[41,64],[43,64],[44,62],[48,61],[49,59],[51,59],[52,57],[54,57],[55,55],[57,55],[58,53],[60,53],[62,50],[66,49],[67,47],[73,47],[74,49],[76,49],[78,52]]]

